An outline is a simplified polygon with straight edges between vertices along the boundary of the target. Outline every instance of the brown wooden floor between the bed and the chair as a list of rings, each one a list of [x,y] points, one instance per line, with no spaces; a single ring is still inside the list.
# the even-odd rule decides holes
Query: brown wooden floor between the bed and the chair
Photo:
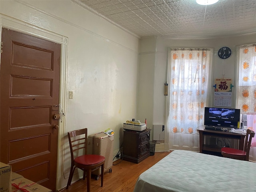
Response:
[[[116,165],[112,166],[112,173],[104,173],[103,187],[100,186],[100,180],[92,179],[91,192],[133,192],[138,176],[168,154],[170,152],[155,152],[153,156],[149,156],[138,164],[117,160],[113,163]],[[62,192],[86,191],[86,179],[81,179],[68,189],[62,190]]]

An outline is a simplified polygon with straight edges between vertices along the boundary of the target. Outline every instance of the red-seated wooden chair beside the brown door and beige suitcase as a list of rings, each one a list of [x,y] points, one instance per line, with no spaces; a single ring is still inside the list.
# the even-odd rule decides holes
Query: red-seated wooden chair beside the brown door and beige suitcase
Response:
[[[72,177],[76,168],[84,171],[83,179],[85,179],[86,174],[87,192],[90,192],[92,171],[101,167],[101,186],[103,186],[105,157],[101,155],[87,154],[87,128],[68,132],[68,141],[71,152],[71,168],[66,189],[68,189],[71,184]],[[74,153],[79,154],[79,152],[80,154],[82,153],[84,155],[74,157]]]

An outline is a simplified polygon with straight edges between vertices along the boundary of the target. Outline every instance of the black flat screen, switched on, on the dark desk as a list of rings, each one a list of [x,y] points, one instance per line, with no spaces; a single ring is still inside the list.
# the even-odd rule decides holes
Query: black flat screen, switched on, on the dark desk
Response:
[[[240,109],[205,107],[204,125],[224,128],[240,128]]]

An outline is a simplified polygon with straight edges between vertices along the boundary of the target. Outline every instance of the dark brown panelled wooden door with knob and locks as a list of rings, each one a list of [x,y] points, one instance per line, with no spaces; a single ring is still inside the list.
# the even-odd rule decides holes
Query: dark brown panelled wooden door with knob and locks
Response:
[[[56,191],[60,44],[2,29],[0,161]]]

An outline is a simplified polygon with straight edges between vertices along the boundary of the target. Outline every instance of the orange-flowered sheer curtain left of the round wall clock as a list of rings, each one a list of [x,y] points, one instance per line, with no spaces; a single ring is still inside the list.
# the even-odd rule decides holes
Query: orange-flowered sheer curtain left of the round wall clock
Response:
[[[168,50],[170,133],[196,134],[208,105],[213,49]]]

